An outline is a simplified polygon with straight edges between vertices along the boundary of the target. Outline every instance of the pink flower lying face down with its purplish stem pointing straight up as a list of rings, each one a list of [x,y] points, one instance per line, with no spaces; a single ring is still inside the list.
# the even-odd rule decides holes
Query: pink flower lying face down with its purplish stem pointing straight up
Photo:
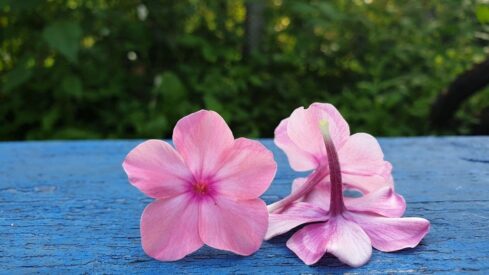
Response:
[[[270,214],[266,239],[305,223],[287,241],[289,247],[308,265],[316,263],[326,252],[350,266],[365,264],[372,246],[380,251],[415,247],[428,233],[429,221],[422,218],[400,218],[404,199],[386,186],[360,198],[343,197],[341,162],[330,136],[326,120],[321,121],[328,157],[329,192],[312,202],[295,201],[281,213]],[[329,128],[331,129],[331,128]]]

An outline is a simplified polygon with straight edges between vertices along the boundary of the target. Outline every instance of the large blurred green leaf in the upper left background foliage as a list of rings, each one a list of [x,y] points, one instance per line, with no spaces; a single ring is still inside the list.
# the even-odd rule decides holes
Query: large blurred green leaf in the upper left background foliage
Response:
[[[51,48],[60,52],[70,62],[78,61],[82,37],[82,29],[78,22],[55,21],[44,28],[42,37]]]

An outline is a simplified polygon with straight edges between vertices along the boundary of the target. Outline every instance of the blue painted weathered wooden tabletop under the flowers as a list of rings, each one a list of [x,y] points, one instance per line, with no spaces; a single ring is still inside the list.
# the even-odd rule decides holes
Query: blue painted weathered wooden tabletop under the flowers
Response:
[[[165,263],[141,249],[139,218],[150,202],[122,171],[140,141],[0,143],[0,273],[365,273],[489,274],[489,137],[380,139],[394,165],[407,216],[432,223],[415,249],[374,251],[350,268],[331,256],[304,265],[285,241],[264,242],[250,257],[204,247]],[[299,174],[271,140],[277,177],[263,196],[285,196]],[[168,273],[167,273],[168,272]]]

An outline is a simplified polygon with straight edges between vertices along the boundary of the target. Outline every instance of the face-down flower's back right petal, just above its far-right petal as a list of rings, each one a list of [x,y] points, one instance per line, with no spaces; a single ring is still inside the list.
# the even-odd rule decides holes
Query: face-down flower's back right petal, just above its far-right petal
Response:
[[[345,198],[346,208],[353,212],[370,212],[386,217],[401,217],[406,210],[404,198],[390,187],[383,187],[359,198]]]

